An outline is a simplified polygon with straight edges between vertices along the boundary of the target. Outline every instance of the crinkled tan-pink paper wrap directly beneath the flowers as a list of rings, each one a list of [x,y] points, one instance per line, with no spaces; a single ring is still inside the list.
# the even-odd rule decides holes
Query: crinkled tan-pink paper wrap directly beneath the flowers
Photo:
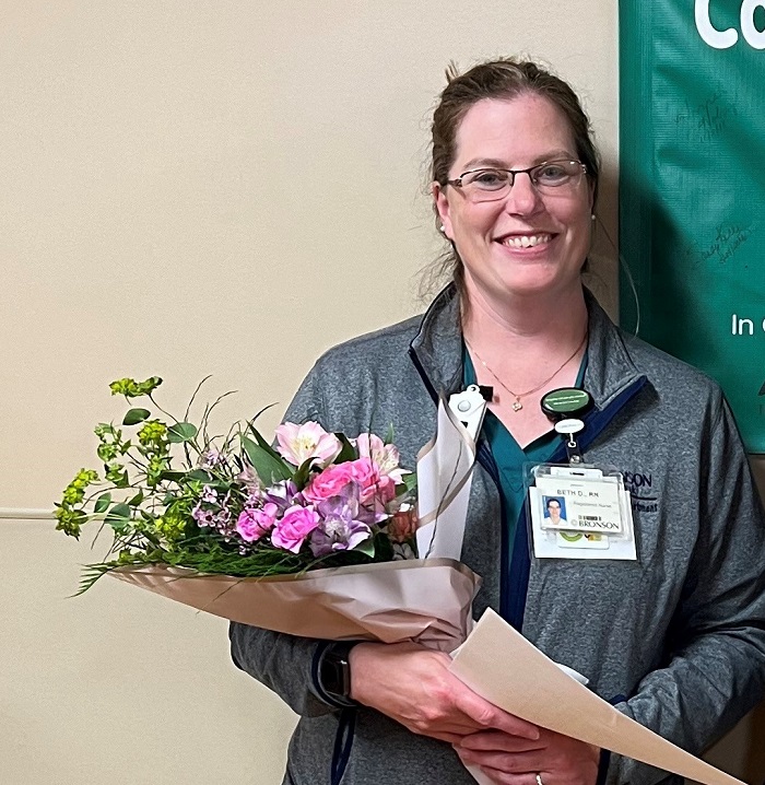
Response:
[[[119,567],[109,573],[208,613],[323,640],[416,641],[451,652],[473,620],[481,579],[450,559],[405,560],[269,578],[207,575],[185,567]]]

